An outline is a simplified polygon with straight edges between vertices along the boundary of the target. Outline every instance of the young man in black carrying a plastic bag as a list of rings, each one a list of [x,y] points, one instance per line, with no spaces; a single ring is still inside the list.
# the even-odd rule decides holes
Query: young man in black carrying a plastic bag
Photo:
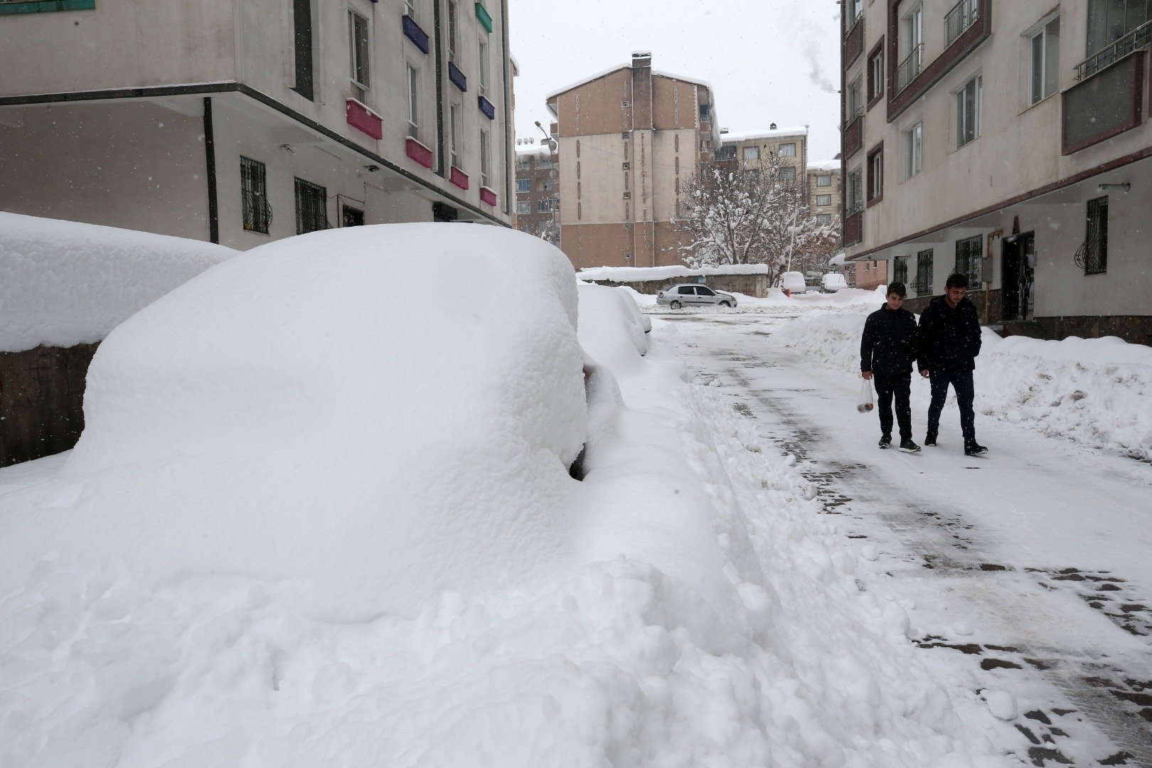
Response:
[[[867,315],[861,339],[861,375],[876,385],[880,448],[892,444],[892,400],[895,396],[900,450],[915,454],[920,447],[912,442],[912,409],[908,397],[918,344],[916,317],[903,309],[905,295],[903,283],[892,283],[885,305]]]

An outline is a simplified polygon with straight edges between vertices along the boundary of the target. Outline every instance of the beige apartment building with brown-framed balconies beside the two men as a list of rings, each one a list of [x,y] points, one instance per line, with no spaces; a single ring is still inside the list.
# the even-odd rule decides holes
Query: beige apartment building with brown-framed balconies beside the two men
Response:
[[[844,245],[914,310],[1152,343],[1147,0],[847,0]]]

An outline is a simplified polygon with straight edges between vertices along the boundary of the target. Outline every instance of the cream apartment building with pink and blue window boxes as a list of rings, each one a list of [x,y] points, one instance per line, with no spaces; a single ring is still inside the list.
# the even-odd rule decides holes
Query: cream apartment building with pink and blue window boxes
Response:
[[[247,249],[510,226],[507,1],[0,0],[0,210]]]

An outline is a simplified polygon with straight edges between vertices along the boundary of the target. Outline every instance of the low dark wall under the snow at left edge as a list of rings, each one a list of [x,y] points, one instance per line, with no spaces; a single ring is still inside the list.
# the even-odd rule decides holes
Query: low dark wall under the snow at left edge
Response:
[[[96,348],[0,352],[0,466],[76,444],[84,429],[84,378]]]

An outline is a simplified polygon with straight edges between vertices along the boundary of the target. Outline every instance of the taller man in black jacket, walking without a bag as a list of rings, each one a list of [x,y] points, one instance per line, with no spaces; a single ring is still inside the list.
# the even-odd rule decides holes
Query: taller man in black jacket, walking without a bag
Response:
[[[940,411],[948,398],[948,385],[956,391],[960,404],[960,428],[964,433],[964,454],[978,456],[988,449],[976,442],[976,411],[972,400],[972,371],[980,353],[980,320],[976,306],[964,297],[968,277],[954,274],[945,284],[945,295],[937,296],[920,313],[920,375],[932,381],[932,404],[929,405],[929,433],[925,446],[935,446],[940,429]]]

